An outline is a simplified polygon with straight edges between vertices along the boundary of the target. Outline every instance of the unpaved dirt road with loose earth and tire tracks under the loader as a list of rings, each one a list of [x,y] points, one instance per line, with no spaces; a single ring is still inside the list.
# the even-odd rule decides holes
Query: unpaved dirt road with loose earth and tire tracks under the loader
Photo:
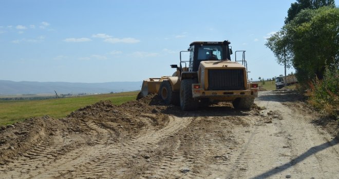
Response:
[[[0,131],[0,178],[338,178],[335,121],[291,92],[255,103],[182,112],[147,96],[28,119]]]

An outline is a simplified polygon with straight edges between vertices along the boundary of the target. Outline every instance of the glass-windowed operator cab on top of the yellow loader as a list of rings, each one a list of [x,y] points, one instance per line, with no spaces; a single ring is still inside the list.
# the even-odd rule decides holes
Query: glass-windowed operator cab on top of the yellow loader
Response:
[[[232,49],[230,42],[225,40],[221,42],[202,42],[195,41],[190,44],[188,49],[190,52],[189,61],[181,61],[188,67],[189,72],[197,72],[200,62],[206,60],[231,60]]]

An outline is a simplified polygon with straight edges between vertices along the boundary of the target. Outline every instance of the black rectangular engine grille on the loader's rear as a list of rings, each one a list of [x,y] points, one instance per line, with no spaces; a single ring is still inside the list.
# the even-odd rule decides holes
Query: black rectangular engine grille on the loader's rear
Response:
[[[208,90],[243,90],[244,79],[242,69],[208,70]]]

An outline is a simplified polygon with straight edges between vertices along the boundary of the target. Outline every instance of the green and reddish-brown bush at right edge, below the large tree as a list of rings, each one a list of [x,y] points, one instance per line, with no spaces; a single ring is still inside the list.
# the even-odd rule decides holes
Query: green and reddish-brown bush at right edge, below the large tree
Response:
[[[306,91],[308,102],[331,116],[338,116],[339,111],[338,77],[338,69],[330,71],[326,68],[323,80],[316,77]]]

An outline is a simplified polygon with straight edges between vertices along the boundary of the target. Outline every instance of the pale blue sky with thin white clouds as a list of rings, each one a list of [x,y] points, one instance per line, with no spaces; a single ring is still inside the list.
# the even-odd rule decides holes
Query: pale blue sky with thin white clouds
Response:
[[[223,40],[233,52],[246,50],[250,79],[272,78],[284,74],[284,66],[266,38],[283,27],[294,2],[0,0],[0,80],[171,76],[170,65],[179,64],[179,52],[191,42]]]

